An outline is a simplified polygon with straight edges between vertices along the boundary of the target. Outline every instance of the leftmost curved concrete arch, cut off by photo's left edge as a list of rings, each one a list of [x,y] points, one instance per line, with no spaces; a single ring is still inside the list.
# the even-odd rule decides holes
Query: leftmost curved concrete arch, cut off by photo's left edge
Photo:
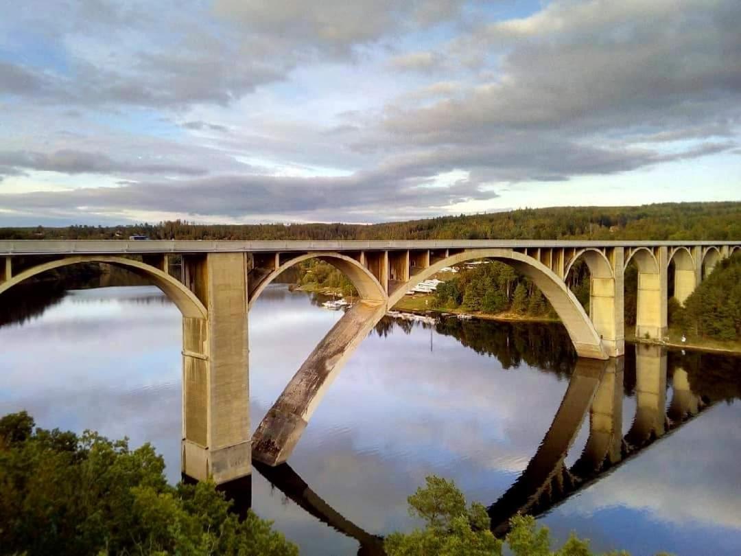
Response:
[[[33,266],[16,274],[10,280],[2,282],[0,284],[0,294],[4,291],[13,288],[14,285],[18,285],[27,279],[33,278],[43,272],[54,270],[55,268],[62,268],[70,265],[77,265],[83,262],[101,262],[107,265],[117,266],[119,268],[125,268],[134,274],[139,276],[147,277],[154,285],[161,289],[165,295],[172,300],[173,303],[179,308],[183,317],[190,317],[194,319],[206,319],[208,311],[206,310],[203,303],[193,294],[188,288],[185,287],[177,279],[171,277],[169,274],[155,268],[152,265],[147,265],[144,262],[137,261],[134,259],[126,259],[124,257],[107,257],[97,255],[83,255],[79,257],[65,257],[64,259],[57,259],[54,261],[44,262],[40,265]]]

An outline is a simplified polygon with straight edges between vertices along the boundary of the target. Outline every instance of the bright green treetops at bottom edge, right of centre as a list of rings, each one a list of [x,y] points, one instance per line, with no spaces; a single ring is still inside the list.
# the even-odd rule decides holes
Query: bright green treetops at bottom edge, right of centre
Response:
[[[548,528],[537,528],[532,516],[513,517],[510,532],[499,540],[489,529],[484,506],[472,503],[466,507],[465,497],[452,481],[434,475],[425,481],[425,488],[408,498],[409,513],[425,520],[425,529],[386,537],[388,556],[501,556],[505,546],[514,556],[594,556],[589,541],[573,533],[560,549],[551,550]]]

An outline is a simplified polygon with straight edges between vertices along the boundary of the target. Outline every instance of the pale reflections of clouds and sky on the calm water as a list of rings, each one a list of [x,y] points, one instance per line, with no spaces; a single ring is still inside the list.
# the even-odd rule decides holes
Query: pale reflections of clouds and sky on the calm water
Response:
[[[89,299],[112,292],[80,294],[90,298],[65,298],[39,320],[0,329],[0,414],[27,408],[40,426],[96,428],[110,437],[128,435],[132,446],[149,440],[176,480],[182,403],[176,308],[110,299],[96,305]],[[106,312],[109,303],[120,312]],[[93,313],[76,319],[79,305],[104,310],[97,318]],[[262,294],[250,311],[253,428],[339,317],[313,307],[308,296],[288,294],[285,286]],[[431,352],[430,334],[420,327],[409,334],[393,328],[388,337],[365,339],[328,389],[290,460],[316,494],[374,534],[416,524],[406,498],[427,474],[453,478],[470,500],[494,502],[535,454],[568,387],[568,380],[524,364],[502,370],[496,358],[436,332]],[[634,408],[635,400],[626,399],[624,432]],[[567,500],[545,523],[559,523],[559,531],[575,528],[610,548],[624,545],[615,537],[622,532],[619,519],[605,523],[600,516],[651,519],[654,533],[667,537],[659,548],[677,553],[682,547],[667,532],[678,526],[697,531],[697,523],[707,529],[713,522],[738,535],[741,517],[734,501],[741,493],[728,488],[741,484],[734,457],[741,451],[741,431],[733,426],[738,411],[738,404],[711,409]],[[576,451],[585,435],[582,427]],[[356,541],[285,501],[259,474],[253,477],[253,502],[302,545],[302,554],[356,551]],[[705,551],[696,552],[717,546],[703,538]],[[626,548],[643,553],[640,546]]]

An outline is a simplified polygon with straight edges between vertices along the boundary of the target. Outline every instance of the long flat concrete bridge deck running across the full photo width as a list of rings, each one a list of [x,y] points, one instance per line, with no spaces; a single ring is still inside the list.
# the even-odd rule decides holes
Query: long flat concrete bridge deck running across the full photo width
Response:
[[[587,239],[425,239],[337,241],[193,241],[193,240],[11,240],[0,241],[0,256],[53,254],[239,253],[259,251],[381,251],[396,249],[669,247],[738,245],[739,241],[594,241]]]

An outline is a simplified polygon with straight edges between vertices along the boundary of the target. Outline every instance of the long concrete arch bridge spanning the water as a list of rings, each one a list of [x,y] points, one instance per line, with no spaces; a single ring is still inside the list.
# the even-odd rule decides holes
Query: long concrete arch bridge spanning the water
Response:
[[[608,360],[625,353],[624,276],[631,262],[638,268],[636,334],[659,338],[667,328],[670,267],[674,297],[684,302],[739,248],[741,241],[0,241],[0,294],[43,272],[88,262],[126,268],[161,288],[183,317],[183,471],[226,483],[250,474],[252,457],[270,466],[288,460],[363,338],[409,289],[442,268],[474,259],[511,265],[551,302],[580,357]],[[312,258],[345,274],[360,300],[250,438],[249,310],[279,274]],[[590,272],[589,313],[566,284],[580,260]]]

